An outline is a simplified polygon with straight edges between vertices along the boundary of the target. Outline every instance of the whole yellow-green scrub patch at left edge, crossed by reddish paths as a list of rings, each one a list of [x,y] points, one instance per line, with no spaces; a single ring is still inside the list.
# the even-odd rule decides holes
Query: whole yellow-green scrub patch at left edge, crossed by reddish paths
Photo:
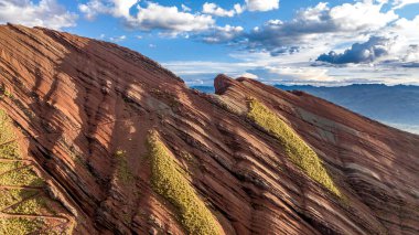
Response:
[[[0,234],[23,235],[47,227],[42,218],[43,212],[50,212],[50,199],[41,196],[44,186],[30,161],[22,159],[12,121],[0,109]]]

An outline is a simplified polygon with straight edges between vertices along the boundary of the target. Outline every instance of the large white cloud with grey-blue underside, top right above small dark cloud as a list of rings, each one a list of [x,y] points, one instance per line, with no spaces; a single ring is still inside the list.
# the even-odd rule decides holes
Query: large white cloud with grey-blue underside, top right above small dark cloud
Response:
[[[382,11],[373,1],[344,3],[330,8],[319,3],[300,10],[291,21],[270,20],[248,34],[249,47],[272,55],[298,53],[327,44],[365,40],[365,34],[379,31],[398,19],[394,11]]]

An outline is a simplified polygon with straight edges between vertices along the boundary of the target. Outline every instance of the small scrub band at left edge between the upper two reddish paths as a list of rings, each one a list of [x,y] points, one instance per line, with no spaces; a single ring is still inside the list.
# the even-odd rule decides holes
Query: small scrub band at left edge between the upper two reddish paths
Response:
[[[44,181],[31,168],[21,168],[0,175],[0,185],[43,186]]]

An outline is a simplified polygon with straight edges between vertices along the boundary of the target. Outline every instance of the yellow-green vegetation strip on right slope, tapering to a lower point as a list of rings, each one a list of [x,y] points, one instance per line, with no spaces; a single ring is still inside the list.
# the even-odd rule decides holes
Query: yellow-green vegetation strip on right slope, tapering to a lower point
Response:
[[[247,116],[279,140],[294,164],[332,193],[342,196],[333,179],[323,167],[322,160],[287,122],[256,99],[250,99],[248,104],[249,113]]]

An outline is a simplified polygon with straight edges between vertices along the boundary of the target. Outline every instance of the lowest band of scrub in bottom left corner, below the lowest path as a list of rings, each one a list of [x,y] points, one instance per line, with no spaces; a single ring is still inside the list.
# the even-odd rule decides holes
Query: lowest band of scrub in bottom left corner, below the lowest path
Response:
[[[0,234],[26,235],[35,233],[45,227],[45,222],[42,218],[1,218]]]

